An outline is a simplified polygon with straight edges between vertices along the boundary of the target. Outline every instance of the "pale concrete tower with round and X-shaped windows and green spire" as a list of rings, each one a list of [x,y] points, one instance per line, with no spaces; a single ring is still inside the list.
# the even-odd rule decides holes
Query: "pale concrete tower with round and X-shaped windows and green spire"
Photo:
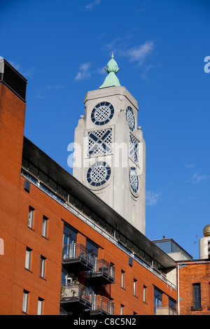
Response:
[[[138,104],[116,76],[85,96],[85,116],[75,130],[73,176],[145,234],[146,146],[137,126]]]

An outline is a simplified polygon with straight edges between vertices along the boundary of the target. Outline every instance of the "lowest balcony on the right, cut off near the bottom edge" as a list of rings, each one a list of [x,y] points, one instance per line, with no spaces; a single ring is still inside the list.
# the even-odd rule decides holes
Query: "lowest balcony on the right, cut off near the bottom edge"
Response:
[[[114,303],[106,297],[95,296],[90,314],[114,315]]]

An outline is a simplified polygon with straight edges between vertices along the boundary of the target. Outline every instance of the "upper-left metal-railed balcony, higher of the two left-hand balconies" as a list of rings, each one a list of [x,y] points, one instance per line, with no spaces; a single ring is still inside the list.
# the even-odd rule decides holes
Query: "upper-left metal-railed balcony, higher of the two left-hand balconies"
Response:
[[[73,265],[78,271],[93,269],[96,255],[82,244],[63,246],[63,265]]]

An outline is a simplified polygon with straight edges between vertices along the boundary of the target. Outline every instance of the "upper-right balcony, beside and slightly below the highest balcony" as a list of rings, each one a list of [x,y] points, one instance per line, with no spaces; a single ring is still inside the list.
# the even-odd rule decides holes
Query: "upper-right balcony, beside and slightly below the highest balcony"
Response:
[[[89,283],[108,284],[115,282],[115,267],[104,259],[95,259],[92,271],[85,273]]]

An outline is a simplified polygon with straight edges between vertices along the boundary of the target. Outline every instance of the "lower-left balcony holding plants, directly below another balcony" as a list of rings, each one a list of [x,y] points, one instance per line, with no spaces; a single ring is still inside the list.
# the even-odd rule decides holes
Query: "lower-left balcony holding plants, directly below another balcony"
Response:
[[[70,309],[92,309],[93,291],[80,283],[64,284],[61,304]]]

